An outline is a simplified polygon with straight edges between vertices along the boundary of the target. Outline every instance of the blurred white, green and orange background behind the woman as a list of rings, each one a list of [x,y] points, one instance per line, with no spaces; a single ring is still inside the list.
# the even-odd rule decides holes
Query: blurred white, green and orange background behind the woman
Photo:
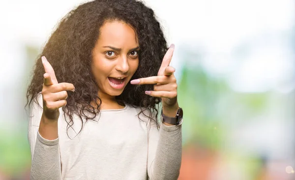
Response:
[[[179,180],[294,180],[295,1],[145,1],[176,44]],[[0,1],[0,180],[29,180],[31,68],[82,2]]]

